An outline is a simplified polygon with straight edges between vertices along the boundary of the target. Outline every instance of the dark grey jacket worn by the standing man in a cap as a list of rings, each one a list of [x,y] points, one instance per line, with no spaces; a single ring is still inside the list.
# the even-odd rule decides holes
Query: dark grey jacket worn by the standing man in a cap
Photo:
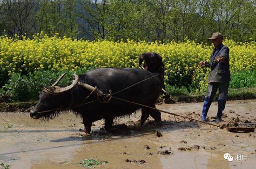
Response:
[[[222,56],[223,62],[213,63],[216,57]],[[208,83],[217,82],[224,83],[230,81],[229,71],[229,48],[224,45],[220,45],[218,48],[214,48],[210,57],[210,63],[205,62],[205,67],[211,68],[211,72],[208,77]]]

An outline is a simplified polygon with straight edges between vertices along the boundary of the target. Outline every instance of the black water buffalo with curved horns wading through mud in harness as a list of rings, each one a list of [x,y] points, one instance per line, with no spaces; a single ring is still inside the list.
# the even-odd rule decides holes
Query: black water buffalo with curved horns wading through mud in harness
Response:
[[[74,110],[74,113],[82,117],[86,133],[90,133],[92,123],[97,120],[104,118],[105,130],[109,130],[115,117],[131,114],[140,108],[141,125],[149,115],[155,121],[161,121],[159,111],[115,98],[155,108],[155,102],[161,93],[162,79],[159,75],[142,69],[99,68],[74,76],[72,84],[67,87],[56,86],[63,77],[61,76],[51,87],[44,88],[39,101],[30,111],[30,117],[50,119],[59,115],[61,110]],[[147,80],[143,81],[144,79]],[[142,82],[138,83],[140,81]],[[131,85],[133,86],[129,87]],[[92,94],[95,89],[92,86],[100,90],[98,94]],[[125,89],[127,87],[129,88]],[[113,98],[104,95],[109,92],[113,94]]]

